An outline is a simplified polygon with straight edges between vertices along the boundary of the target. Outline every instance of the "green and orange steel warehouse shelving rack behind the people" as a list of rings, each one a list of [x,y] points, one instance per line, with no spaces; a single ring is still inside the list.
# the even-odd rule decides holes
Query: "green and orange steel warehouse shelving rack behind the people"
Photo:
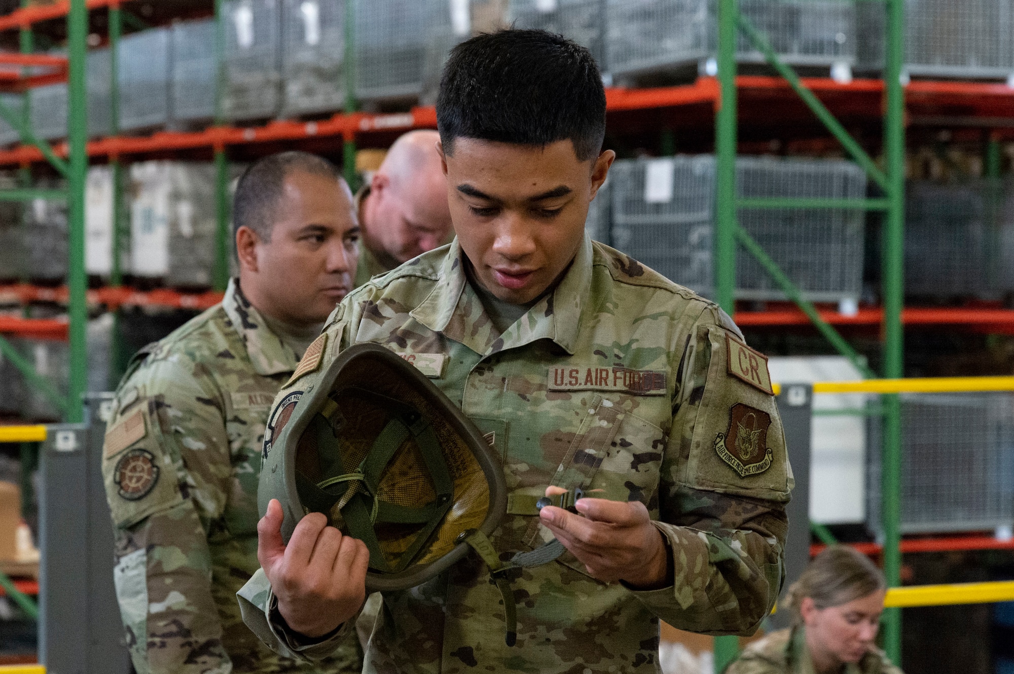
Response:
[[[60,321],[39,321],[27,319],[0,320],[0,333],[21,332],[49,336],[69,335],[72,344],[71,395],[68,418],[76,417],[84,382],[84,321],[88,303],[104,304],[110,307],[126,305],[166,306],[204,309],[220,298],[228,275],[228,199],[227,199],[227,155],[228,148],[249,146],[268,147],[270,144],[286,142],[306,142],[317,139],[341,141],[344,166],[350,182],[355,180],[355,152],[358,139],[384,136],[410,129],[427,129],[436,125],[436,113],[432,107],[416,107],[411,111],[393,114],[374,114],[357,111],[354,97],[355,59],[354,21],[347,16],[345,21],[346,40],[345,68],[346,109],[333,117],[315,121],[278,120],[260,127],[227,124],[222,115],[222,106],[216,102],[215,124],[205,131],[194,133],[160,132],[147,137],[119,136],[119,114],[116,109],[119,96],[116,92],[114,71],[114,133],[111,137],[86,142],[83,114],[83,78],[85,55],[85,31],[87,11],[107,9],[110,12],[110,43],[114,68],[116,50],[122,34],[123,17],[121,1],[128,0],[64,0],[46,7],[22,8],[12,14],[0,17],[0,31],[19,29],[22,51],[31,51],[30,26],[39,21],[68,17],[71,49],[68,56],[71,82],[71,134],[68,143],[61,143],[52,149],[44,143],[25,143],[6,151],[0,151],[0,166],[25,167],[33,163],[50,160],[56,166],[66,167],[74,176],[68,190],[71,202],[71,265],[70,282],[66,288],[39,288],[18,285],[0,288],[0,298],[17,297],[21,302],[53,301],[65,302],[70,306],[69,325]],[[732,313],[734,309],[734,274],[736,247],[742,246],[747,253],[756,256],[767,270],[779,282],[796,307],[785,306],[767,312],[740,312],[734,318],[742,326],[790,326],[812,323],[845,355],[851,357],[868,376],[872,376],[866,365],[859,361],[848,341],[839,334],[837,328],[879,327],[884,335],[884,371],[888,378],[902,374],[902,329],[904,325],[950,325],[965,329],[992,333],[1014,334],[1014,311],[1003,309],[903,309],[902,307],[902,228],[903,228],[903,173],[904,173],[904,129],[906,124],[939,127],[977,127],[992,130],[988,154],[991,175],[999,173],[999,142],[1012,138],[1014,130],[1014,89],[1004,84],[913,81],[902,84],[901,63],[903,54],[901,28],[903,23],[903,0],[870,0],[881,2],[887,15],[886,67],[883,79],[856,79],[850,83],[835,82],[825,78],[799,78],[794,71],[782,64],[767,39],[748,20],[738,15],[738,0],[719,0],[719,56],[717,77],[701,77],[695,83],[684,86],[658,87],[649,89],[610,88],[607,90],[607,104],[610,123],[624,121],[627,114],[645,110],[678,110],[686,118],[701,121],[710,116],[709,124],[716,132],[716,156],[719,180],[717,241],[715,250],[716,288],[718,301]],[[352,11],[353,3],[347,3],[347,11]],[[214,0],[216,16],[221,17],[222,0]],[[219,21],[217,54],[219,63],[223,58],[222,22]],[[765,54],[769,65],[778,77],[737,75],[735,64],[735,43],[737,33],[742,31]],[[218,71],[219,83],[223,71]],[[0,84],[3,78],[0,76]],[[222,87],[218,87],[221,91]],[[798,98],[796,98],[798,96]],[[747,105],[740,106],[739,102]],[[752,105],[750,105],[752,104]],[[768,118],[799,118],[801,114],[815,114],[827,127],[852,155],[855,161],[867,170],[872,182],[879,185],[882,196],[844,203],[841,200],[816,202],[787,199],[740,199],[735,195],[735,156],[737,151],[737,127],[767,122],[751,112],[751,107],[763,108]],[[774,114],[773,114],[774,110]],[[807,112],[809,110],[809,112]],[[907,118],[908,110],[908,118]],[[780,114],[784,112],[785,114]],[[754,115],[754,116],[751,116]],[[845,127],[836,119],[844,117],[882,117],[884,128],[884,165],[881,167],[848,134]],[[30,139],[28,139],[30,141]],[[123,273],[119,268],[119,246],[123,231],[123,214],[117,212],[114,238],[114,270],[111,286],[95,290],[85,289],[83,269],[83,183],[88,158],[107,159],[115,167],[117,189],[122,189],[123,167],[121,160],[146,155],[172,152],[210,150],[218,167],[217,210],[218,231],[216,238],[217,263],[214,285],[218,292],[189,294],[173,290],[138,292],[122,286]],[[66,160],[66,161],[65,161]],[[0,198],[34,198],[40,192],[25,190],[20,194],[10,192]],[[48,194],[51,197],[59,194]],[[119,194],[116,203],[120,203]],[[737,209],[750,207],[856,207],[881,212],[885,215],[885,237],[883,256],[883,308],[861,309],[857,314],[846,316],[834,311],[819,309],[800,297],[789,279],[781,273],[763,250],[736,223]],[[881,547],[885,570],[892,586],[899,584],[900,554],[929,550],[964,550],[974,547],[1002,547],[994,539],[956,537],[935,539],[933,543],[901,541],[898,530],[898,471],[900,469],[900,426],[899,407],[896,395],[888,395],[885,405],[885,451],[883,494],[885,495],[884,518],[885,540]],[[819,531],[826,535],[826,531]],[[977,542],[976,542],[977,541]],[[991,542],[992,541],[992,542]],[[872,549],[871,549],[872,551]],[[896,609],[886,617],[885,645],[888,653],[899,655],[899,613]],[[728,641],[717,645],[716,662],[721,664],[729,657],[731,649]]]

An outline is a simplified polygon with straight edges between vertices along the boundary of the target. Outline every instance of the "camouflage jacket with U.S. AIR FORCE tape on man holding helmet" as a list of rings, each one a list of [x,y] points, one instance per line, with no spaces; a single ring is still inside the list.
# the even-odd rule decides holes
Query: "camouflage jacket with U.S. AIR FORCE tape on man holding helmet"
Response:
[[[382,344],[487,434],[513,494],[552,484],[643,501],[673,576],[633,591],[592,579],[570,553],[518,570],[511,648],[499,592],[472,555],[383,593],[364,672],[655,672],[659,619],[751,634],[781,587],[791,489],[775,400],[760,390],[770,391],[764,357],[715,305],[587,237],[557,288],[497,334],[460,255],[452,242],[353,291],[324,328],[315,371],[276,405],[313,386],[341,348]],[[551,538],[534,513],[509,506],[492,541],[503,557]],[[265,643],[311,661],[354,622],[307,642],[281,618],[263,570],[239,596]]]

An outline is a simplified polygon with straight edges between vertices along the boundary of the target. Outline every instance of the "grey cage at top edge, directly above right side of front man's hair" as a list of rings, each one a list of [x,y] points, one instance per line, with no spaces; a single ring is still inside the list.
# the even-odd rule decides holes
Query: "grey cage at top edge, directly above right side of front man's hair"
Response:
[[[602,72],[605,62],[606,0],[511,0],[509,21],[518,28],[538,28],[562,34],[595,57]]]

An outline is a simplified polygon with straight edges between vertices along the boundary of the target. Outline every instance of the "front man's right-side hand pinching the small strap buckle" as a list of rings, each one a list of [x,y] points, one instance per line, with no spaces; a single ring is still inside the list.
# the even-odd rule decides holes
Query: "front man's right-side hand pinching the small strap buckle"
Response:
[[[564,491],[550,487],[546,495]],[[643,503],[583,498],[574,507],[580,515],[547,506],[539,517],[593,578],[606,583],[624,581],[639,590],[671,584],[668,549]]]

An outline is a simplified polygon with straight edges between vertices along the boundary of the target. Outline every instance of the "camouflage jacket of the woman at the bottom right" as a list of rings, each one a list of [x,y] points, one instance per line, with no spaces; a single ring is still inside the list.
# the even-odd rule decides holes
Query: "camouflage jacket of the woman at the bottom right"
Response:
[[[780,629],[747,646],[725,674],[814,674],[803,627]],[[842,674],[901,674],[883,651],[873,649]]]

